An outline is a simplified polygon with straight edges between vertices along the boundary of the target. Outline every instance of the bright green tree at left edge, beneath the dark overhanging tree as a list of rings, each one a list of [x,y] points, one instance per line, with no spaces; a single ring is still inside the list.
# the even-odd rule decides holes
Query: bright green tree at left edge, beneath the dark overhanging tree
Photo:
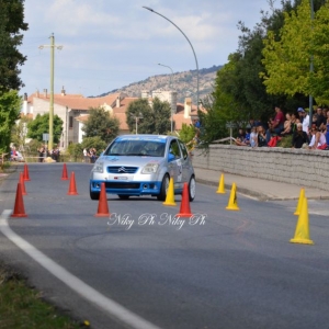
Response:
[[[0,154],[9,151],[11,129],[20,117],[21,105],[16,91],[0,91]]]

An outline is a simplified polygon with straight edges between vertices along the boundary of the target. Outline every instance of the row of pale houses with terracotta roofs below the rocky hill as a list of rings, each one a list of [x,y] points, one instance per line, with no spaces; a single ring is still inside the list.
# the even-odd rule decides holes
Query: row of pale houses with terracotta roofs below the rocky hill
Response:
[[[168,101],[172,109],[172,120],[174,129],[180,131],[182,124],[191,124],[192,116],[196,116],[196,106],[192,106],[191,99],[185,99],[185,103],[177,103],[177,93],[168,91],[155,91],[151,94],[144,91],[143,98],[148,98],[151,105],[152,99],[158,97],[162,101]],[[129,134],[126,123],[126,111],[131,102],[138,98],[129,98],[124,93],[112,93],[101,98],[84,98],[81,94],[67,94],[63,88],[61,92],[54,94],[54,115],[58,115],[63,122],[63,134],[60,136],[60,147],[66,149],[71,143],[81,143],[83,138],[82,127],[88,120],[91,107],[104,107],[120,121],[120,134]],[[22,114],[32,116],[49,112],[50,95],[47,90],[41,93],[38,90],[32,95],[24,94]],[[47,133],[47,132],[45,132]]]

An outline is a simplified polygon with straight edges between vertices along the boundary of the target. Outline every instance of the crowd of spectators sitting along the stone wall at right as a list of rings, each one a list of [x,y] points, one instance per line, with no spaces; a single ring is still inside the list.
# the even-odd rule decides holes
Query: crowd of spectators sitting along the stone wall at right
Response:
[[[310,118],[298,107],[296,113],[284,114],[275,107],[275,115],[268,124],[251,118],[248,128],[239,128],[236,145],[250,147],[275,147],[277,141],[291,136],[292,148],[329,149],[329,110],[318,107]]]

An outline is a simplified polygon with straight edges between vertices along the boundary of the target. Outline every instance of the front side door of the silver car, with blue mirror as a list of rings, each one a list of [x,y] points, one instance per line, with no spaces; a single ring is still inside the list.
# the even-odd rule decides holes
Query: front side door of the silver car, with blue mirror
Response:
[[[169,146],[169,173],[173,178],[174,189],[183,188],[182,154],[177,139],[172,139]]]

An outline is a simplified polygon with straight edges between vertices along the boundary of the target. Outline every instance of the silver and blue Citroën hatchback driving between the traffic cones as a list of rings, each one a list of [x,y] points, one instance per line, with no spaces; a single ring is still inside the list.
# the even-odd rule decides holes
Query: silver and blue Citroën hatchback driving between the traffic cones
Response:
[[[174,194],[189,184],[189,197],[195,197],[195,174],[185,145],[174,136],[123,135],[116,137],[99,157],[90,173],[90,197],[99,200],[101,183],[106,193],[120,198],[136,195],[164,201],[170,178]]]

